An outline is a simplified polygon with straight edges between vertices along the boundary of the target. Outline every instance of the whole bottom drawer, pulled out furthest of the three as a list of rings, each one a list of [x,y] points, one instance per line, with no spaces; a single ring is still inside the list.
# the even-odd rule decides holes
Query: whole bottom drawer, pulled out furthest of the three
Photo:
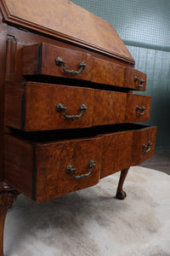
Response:
[[[156,127],[100,126],[5,135],[5,180],[42,202],[99,182],[154,154]],[[150,144],[149,144],[150,142]]]

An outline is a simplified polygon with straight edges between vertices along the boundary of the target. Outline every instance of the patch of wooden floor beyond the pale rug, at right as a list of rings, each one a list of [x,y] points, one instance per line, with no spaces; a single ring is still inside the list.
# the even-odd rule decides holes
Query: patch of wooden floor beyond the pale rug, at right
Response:
[[[154,157],[146,160],[140,166],[166,172],[170,175],[170,151],[156,151]]]

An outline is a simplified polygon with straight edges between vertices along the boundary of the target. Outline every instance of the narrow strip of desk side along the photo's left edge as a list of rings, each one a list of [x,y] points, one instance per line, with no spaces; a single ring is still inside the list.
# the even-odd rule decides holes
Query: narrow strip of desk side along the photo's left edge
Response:
[[[7,25],[2,19],[0,12],[0,182],[3,180],[4,73],[7,40]]]

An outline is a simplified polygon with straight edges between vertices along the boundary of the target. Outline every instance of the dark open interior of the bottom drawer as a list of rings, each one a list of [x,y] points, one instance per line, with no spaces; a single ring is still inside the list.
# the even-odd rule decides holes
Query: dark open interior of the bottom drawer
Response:
[[[19,131],[12,129],[14,137],[20,137],[29,140],[32,143],[48,143],[57,140],[67,140],[74,138],[96,137],[102,134],[108,134],[118,131],[133,131],[149,128],[148,125],[139,124],[119,124],[94,126],[92,128],[72,129],[72,130],[55,130],[55,131]]]

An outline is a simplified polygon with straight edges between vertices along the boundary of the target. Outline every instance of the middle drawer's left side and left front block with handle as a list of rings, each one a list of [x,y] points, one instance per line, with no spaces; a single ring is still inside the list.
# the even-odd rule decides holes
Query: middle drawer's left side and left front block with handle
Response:
[[[45,131],[92,125],[93,89],[28,82],[25,88],[22,84],[6,84],[5,95],[8,126]]]

